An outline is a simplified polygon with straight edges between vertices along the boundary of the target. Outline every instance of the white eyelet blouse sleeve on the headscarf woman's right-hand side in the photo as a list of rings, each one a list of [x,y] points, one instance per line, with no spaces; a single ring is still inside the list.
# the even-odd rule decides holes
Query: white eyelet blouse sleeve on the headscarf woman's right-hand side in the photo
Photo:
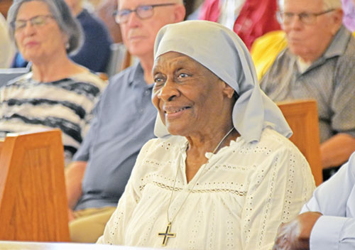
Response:
[[[288,222],[310,198],[315,182],[300,151],[281,147],[249,176],[241,214],[242,249],[272,249],[281,222]]]

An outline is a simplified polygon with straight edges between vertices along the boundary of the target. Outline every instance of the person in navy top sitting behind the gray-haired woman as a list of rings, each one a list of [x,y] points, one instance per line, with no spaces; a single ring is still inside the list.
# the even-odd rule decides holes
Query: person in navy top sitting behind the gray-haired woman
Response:
[[[94,72],[105,72],[111,54],[111,36],[105,24],[83,9],[83,0],[65,0],[72,15],[79,21],[83,31],[83,44],[79,50],[70,55],[77,64],[87,67]],[[28,61],[21,53],[17,53],[12,67],[26,67]]]

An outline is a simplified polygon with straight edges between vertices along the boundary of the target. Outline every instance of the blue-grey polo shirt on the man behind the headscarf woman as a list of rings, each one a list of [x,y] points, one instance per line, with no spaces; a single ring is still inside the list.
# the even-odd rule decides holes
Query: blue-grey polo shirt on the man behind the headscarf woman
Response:
[[[157,111],[138,63],[111,78],[94,109],[75,161],[87,161],[75,210],[116,206],[141,147],[153,138]]]

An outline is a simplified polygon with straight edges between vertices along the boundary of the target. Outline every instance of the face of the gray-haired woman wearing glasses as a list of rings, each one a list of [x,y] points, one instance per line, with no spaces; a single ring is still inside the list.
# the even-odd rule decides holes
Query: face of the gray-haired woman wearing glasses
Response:
[[[60,31],[47,4],[43,1],[22,4],[18,9],[16,21],[27,21],[25,26],[15,28],[18,50],[26,60],[35,63],[55,57],[58,53],[65,53],[67,37]]]

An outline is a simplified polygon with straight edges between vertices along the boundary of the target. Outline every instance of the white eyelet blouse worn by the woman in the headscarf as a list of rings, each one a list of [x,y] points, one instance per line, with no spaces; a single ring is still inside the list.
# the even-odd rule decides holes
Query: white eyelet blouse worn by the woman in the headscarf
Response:
[[[168,249],[271,249],[279,224],[293,219],[315,188],[300,151],[271,129],[258,143],[239,137],[206,153],[207,163],[190,183],[186,148],[180,136],[143,146],[98,243],[160,248],[169,209],[176,236]]]

